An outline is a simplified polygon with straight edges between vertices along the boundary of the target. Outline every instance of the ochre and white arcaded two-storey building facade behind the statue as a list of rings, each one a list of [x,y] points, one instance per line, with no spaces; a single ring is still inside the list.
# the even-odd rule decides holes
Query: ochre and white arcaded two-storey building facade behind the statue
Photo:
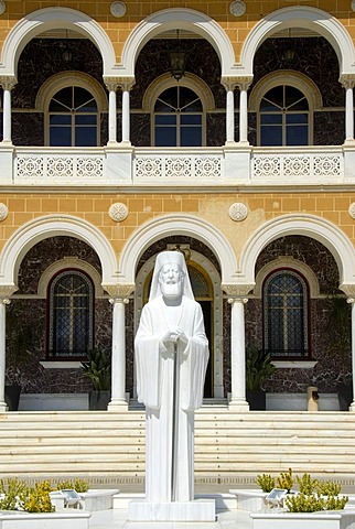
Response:
[[[135,401],[133,336],[172,248],[204,311],[208,402],[248,410],[255,347],[277,409],[352,388],[349,0],[0,7],[0,409],[13,382],[22,409],[80,407],[94,348],[109,409]]]

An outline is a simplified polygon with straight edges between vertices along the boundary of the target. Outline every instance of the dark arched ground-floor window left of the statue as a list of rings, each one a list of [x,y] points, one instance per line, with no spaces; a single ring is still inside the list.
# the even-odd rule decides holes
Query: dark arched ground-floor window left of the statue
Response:
[[[94,287],[86,273],[65,270],[49,287],[49,356],[84,357],[94,345]]]

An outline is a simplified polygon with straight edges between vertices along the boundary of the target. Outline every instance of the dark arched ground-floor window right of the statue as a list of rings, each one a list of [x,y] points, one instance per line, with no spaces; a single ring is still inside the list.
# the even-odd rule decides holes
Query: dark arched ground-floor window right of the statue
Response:
[[[293,270],[277,270],[263,283],[263,343],[273,358],[304,358],[309,348],[309,289]]]

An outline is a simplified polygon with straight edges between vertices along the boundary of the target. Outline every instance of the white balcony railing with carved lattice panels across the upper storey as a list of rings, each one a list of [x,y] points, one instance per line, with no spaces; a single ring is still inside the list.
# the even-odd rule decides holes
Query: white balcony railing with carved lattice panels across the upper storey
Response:
[[[2,185],[304,186],[355,183],[354,147],[195,149],[0,144]]]

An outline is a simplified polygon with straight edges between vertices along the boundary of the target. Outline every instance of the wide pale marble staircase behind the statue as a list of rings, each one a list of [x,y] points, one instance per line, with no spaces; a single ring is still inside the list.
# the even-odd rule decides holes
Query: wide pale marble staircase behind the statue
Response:
[[[195,477],[252,485],[260,473],[355,483],[355,413],[233,412],[203,407],[195,420]],[[28,411],[0,414],[0,477],[86,477],[142,483],[144,413]]]

